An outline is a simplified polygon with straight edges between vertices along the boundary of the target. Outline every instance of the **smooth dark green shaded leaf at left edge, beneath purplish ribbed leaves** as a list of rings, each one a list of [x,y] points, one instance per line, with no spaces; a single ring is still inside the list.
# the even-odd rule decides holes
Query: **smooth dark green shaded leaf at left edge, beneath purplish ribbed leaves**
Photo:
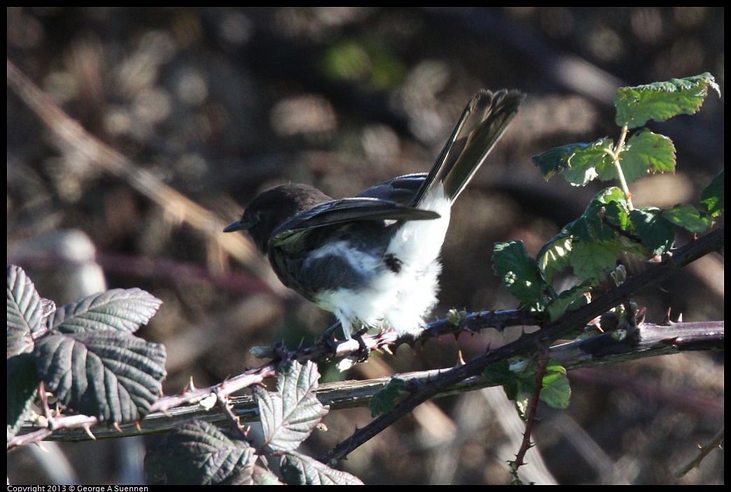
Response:
[[[36,358],[20,354],[7,359],[7,439],[10,441],[23,424],[41,380]]]

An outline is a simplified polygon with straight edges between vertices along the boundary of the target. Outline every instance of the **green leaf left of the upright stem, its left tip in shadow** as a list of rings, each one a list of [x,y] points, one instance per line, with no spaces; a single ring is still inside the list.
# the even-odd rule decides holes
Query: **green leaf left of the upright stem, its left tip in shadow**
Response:
[[[607,137],[591,143],[572,143],[533,157],[533,164],[545,179],[560,173],[569,183],[583,186],[599,176],[597,168],[612,165],[613,146],[614,142]]]

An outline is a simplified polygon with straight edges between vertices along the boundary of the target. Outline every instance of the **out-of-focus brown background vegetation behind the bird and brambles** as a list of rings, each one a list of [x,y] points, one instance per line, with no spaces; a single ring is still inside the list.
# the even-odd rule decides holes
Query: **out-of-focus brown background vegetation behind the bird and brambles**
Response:
[[[260,365],[251,346],[285,340],[294,348],[333,321],[281,288],[243,237],[224,238],[249,199],[282,182],[341,197],[428,171],[482,88],[529,95],[455,205],[434,316],[517,307],[493,275],[493,243],[522,239],[535,254],[605,185],[547,183],[531,156],[616,138],[619,86],[711,72],[724,93],[724,9],[9,7],[7,56],[127,159],[110,173],[9,89],[7,262],[58,305],[133,286],[162,299],[140,335],[167,346],[165,391],[173,394],[190,377],[203,387]],[[697,204],[724,167],[723,111],[711,94],[700,113],[651,124],[675,142],[678,170],[633,184],[637,206]],[[193,220],[183,197],[211,215]],[[723,258],[703,258],[636,300],[651,322],[668,308],[673,319],[722,320]],[[321,372],[366,379],[450,367],[458,351],[467,359],[515,336],[431,340],[374,354],[346,375]],[[569,409],[539,411],[529,480],[723,482],[722,451],[673,477],[723,425],[722,354],[569,378]],[[343,468],[373,484],[504,483],[521,430],[512,417],[499,389],[425,403]],[[308,451],[317,455],[370,420],[367,409],[333,411],[330,430]],[[136,440],[48,450],[11,453],[10,483],[142,480]]]

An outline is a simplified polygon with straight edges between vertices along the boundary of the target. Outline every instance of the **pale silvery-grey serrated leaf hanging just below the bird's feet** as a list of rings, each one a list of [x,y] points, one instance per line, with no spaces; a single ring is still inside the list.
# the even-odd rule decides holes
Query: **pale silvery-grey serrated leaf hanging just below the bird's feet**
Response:
[[[295,450],[327,415],[327,406],[317,400],[317,365],[292,361],[277,371],[277,392],[254,387],[267,452]]]

